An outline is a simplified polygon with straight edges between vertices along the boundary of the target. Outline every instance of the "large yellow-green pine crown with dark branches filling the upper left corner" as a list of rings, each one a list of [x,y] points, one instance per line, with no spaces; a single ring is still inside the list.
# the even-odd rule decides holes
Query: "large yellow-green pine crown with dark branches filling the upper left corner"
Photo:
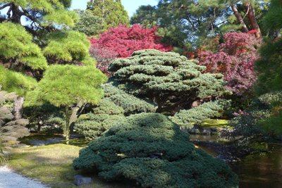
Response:
[[[85,35],[68,31],[78,20],[75,12],[68,11],[69,6],[69,0],[1,1],[1,9],[8,7],[1,18],[1,22],[7,23],[0,24],[0,35],[4,36],[1,41],[3,54],[0,54],[2,63],[8,63],[11,68],[16,66],[21,71],[47,68],[47,62],[90,63]],[[27,19],[25,25],[21,21],[23,18]]]

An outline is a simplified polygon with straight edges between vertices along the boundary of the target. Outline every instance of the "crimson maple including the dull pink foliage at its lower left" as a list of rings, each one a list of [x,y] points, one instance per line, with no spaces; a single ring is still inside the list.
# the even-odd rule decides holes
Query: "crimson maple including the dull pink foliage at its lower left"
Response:
[[[141,49],[171,51],[172,46],[161,43],[161,37],[156,35],[157,29],[137,24],[132,27],[119,25],[104,32],[98,39],[90,39],[90,54],[97,59],[97,68],[109,76],[111,73],[107,69],[114,58],[126,58]]]

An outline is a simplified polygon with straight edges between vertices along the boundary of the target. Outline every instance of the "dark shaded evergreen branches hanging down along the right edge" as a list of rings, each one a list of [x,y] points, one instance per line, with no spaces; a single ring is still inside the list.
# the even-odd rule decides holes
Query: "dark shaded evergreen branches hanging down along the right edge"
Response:
[[[281,18],[282,4],[281,1],[271,1],[269,13],[266,14],[264,23],[269,26],[269,31],[279,33],[282,28],[277,19]],[[269,20],[273,23],[269,25]],[[269,134],[282,134],[282,56],[281,56],[282,38],[277,37],[272,42],[267,42],[261,49],[262,58],[256,63],[258,73],[257,95],[259,99],[264,99],[271,104],[271,115],[269,118],[262,120],[260,125],[264,127]]]

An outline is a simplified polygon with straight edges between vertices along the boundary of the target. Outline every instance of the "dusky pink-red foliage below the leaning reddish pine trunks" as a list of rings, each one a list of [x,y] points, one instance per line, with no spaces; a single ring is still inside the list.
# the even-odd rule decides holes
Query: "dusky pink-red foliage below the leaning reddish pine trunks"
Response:
[[[198,58],[201,65],[207,66],[206,72],[224,75],[226,89],[242,95],[257,79],[254,63],[259,58],[260,43],[252,33],[229,32],[224,35],[224,43],[219,44],[218,51],[202,51]]]

